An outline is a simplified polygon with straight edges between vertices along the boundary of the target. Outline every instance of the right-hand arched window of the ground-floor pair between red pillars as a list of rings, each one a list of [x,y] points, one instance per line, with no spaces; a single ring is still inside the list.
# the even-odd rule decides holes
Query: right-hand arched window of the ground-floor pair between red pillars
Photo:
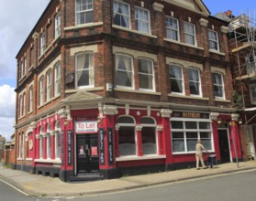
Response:
[[[156,123],[150,117],[142,117],[140,119],[141,141],[143,154],[156,154],[157,153],[157,136],[156,136]]]

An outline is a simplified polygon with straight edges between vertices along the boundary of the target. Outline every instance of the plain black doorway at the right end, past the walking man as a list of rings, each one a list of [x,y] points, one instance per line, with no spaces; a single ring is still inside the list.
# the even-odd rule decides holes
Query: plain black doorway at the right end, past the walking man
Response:
[[[228,130],[218,130],[218,144],[221,163],[230,162]]]

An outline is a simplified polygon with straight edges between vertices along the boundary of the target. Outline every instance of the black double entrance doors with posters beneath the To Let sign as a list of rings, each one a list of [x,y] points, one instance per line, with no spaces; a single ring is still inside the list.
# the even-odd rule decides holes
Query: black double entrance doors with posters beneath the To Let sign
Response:
[[[77,174],[99,172],[99,153],[97,134],[76,135]]]

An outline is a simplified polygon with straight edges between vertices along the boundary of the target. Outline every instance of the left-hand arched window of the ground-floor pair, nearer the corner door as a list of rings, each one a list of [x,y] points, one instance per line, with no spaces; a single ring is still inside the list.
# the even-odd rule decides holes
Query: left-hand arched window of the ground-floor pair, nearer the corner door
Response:
[[[135,121],[128,116],[121,116],[119,127],[119,155],[136,155]]]

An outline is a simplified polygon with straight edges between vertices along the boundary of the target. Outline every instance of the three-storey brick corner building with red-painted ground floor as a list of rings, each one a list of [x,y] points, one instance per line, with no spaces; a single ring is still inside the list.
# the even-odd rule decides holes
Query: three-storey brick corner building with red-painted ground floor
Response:
[[[51,0],[17,53],[16,168],[62,181],[242,159],[228,23],[195,1]]]

